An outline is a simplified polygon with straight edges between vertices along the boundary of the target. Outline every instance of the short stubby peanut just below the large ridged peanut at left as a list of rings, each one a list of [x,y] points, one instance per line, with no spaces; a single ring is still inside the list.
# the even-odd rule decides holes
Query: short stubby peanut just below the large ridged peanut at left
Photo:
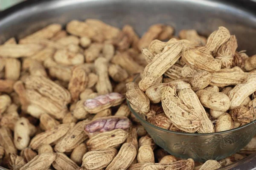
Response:
[[[42,130],[50,130],[60,124],[57,120],[44,113],[40,116],[40,127]]]

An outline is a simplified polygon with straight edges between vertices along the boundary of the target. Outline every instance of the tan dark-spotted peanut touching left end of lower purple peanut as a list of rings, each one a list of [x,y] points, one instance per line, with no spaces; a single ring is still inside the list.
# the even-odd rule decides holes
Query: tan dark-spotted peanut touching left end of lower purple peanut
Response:
[[[67,152],[84,142],[88,138],[84,133],[84,125],[87,122],[88,120],[86,119],[78,122],[74,127],[71,127],[67,134],[56,143],[54,150],[62,153]]]

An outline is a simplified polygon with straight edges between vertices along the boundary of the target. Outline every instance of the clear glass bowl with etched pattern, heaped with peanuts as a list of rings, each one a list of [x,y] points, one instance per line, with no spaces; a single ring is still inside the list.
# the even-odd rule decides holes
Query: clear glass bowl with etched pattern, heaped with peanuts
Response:
[[[140,76],[134,79],[138,83]],[[256,135],[255,121],[247,125],[216,133],[183,133],[152,125],[145,116],[128,107],[154,142],[173,156],[195,161],[220,160],[245,147]]]

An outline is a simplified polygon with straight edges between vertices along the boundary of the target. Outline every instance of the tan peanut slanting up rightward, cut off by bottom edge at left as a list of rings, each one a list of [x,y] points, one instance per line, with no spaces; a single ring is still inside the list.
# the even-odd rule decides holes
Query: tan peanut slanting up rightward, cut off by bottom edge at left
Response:
[[[44,170],[48,169],[56,159],[56,153],[42,153],[35,156],[31,161],[26,163],[20,170]]]

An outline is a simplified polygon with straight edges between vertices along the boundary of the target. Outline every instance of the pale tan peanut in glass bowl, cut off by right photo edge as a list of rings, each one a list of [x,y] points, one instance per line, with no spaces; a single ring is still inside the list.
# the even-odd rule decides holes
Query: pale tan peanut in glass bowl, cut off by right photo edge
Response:
[[[244,99],[256,91],[256,75],[249,75],[248,78],[241,84],[236,85],[230,92],[230,109],[241,105]]]

